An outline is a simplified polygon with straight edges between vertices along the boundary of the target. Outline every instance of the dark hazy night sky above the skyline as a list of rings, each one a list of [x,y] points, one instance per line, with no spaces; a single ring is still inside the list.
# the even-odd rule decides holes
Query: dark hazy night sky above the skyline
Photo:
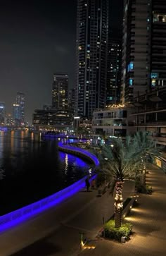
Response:
[[[25,121],[32,123],[34,109],[51,104],[53,73],[67,72],[74,87],[76,12],[77,0],[1,1],[0,102],[7,113],[25,92]],[[122,0],[110,0],[115,36],[120,13]]]

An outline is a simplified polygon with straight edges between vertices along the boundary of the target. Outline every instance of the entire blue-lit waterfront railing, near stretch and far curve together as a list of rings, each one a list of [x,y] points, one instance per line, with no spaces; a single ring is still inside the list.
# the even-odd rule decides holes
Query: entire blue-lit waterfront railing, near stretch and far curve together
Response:
[[[82,150],[79,147],[70,147],[68,145],[58,145],[59,150],[63,150],[65,152],[70,152],[71,154],[79,154],[82,157],[86,157],[90,159],[95,166],[99,165],[99,161],[94,154],[91,154],[87,150]],[[79,190],[85,187],[85,178],[75,182],[74,184],[68,186],[68,188],[64,188],[63,190],[58,191],[57,193],[50,195],[42,200],[32,203],[31,205],[27,205],[23,208],[17,209],[13,212],[0,216],[0,231],[4,231],[7,228],[15,226],[20,222],[23,222],[35,214],[39,214],[50,207],[58,205],[60,202],[63,202],[68,197],[71,197]],[[96,178],[96,174],[91,175],[89,181],[93,178]]]

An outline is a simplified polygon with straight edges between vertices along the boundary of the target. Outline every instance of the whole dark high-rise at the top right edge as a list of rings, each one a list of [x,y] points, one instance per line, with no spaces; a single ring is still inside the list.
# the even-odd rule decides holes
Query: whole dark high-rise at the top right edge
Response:
[[[166,85],[166,1],[125,0],[122,102]]]

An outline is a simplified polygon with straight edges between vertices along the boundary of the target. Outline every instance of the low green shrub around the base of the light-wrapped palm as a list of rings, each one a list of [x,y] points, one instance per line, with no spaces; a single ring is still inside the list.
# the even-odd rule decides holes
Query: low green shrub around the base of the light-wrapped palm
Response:
[[[129,236],[132,233],[132,224],[124,223],[120,228],[115,228],[115,221],[110,219],[104,225],[104,235],[106,238],[115,239],[121,241],[122,236],[125,236],[129,240]]]

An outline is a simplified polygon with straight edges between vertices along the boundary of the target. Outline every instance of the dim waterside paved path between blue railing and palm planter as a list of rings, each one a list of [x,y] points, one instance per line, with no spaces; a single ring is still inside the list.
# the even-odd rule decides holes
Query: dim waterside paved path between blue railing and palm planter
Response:
[[[124,198],[133,190],[132,181],[125,183]],[[103,217],[107,220],[113,214],[113,197],[108,192],[97,195],[97,190],[83,190],[25,224],[1,233],[0,256],[78,255],[80,233],[96,240]]]

